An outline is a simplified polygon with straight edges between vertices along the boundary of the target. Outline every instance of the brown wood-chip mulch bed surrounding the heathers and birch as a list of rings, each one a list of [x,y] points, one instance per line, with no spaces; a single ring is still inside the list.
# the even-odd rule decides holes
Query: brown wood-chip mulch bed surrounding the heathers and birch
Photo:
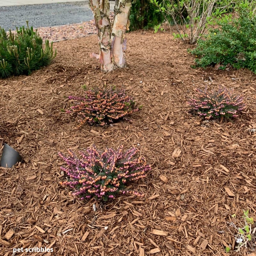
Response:
[[[256,134],[250,132],[256,128],[255,74],[192,69],[189,46],[164,32],[127,34],[129,67],[111,73],[101,72],[90,58],[98,52],[96,35],[53,45],[58,53],[50,66],[0,80],[1,145],[8,143],[24,159],[0,169],[0,254],[47,247],[54,250],[48,256],[236,255],[225,252],[236,246],[228,223],[244,224],[247,209],[256,219]],[[70,104],[66,96],[83,93],[84,84],[124,86],[143,107],[130,122],[77,130],[76,120],[61,108]],[[206,85],[235,88],[246,110],[222,123],[188,114],[186,100]],[[63,162],[57,153],[93,143],[140,149],[152,165],[147,178],[134,185],[145,197],[96,202],[94,212],[94,200],[69,196],[60,186]],[[246,253],[250,248],[241,255]]]

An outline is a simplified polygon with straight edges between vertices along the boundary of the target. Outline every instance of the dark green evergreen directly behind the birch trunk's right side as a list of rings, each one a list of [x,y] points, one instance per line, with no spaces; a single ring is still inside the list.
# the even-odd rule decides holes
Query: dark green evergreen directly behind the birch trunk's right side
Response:
[[[130,31],[154,28],[164,21],[164,16],[149,0],[133,0],[130,12]]]

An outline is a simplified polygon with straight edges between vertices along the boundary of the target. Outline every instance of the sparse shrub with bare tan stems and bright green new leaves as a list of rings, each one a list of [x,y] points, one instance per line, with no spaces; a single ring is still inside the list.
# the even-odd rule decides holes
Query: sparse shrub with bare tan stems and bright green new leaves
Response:
[[[195,44],[215,20],[229,10],[232,0],[148,0],[164,16],[170,29],[175,25],[174,38]]]

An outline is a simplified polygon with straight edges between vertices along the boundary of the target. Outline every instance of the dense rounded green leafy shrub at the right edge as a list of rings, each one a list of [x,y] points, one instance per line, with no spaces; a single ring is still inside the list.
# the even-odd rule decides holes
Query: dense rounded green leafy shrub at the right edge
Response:
[[[197,47],[189,50],[196,56],[195,67],[219,64],[234,68],[248,68],[256,73],[256,16],[247,8],[240,8],[239,18],[227,16],[220,22],[220,28],[212,29]]]

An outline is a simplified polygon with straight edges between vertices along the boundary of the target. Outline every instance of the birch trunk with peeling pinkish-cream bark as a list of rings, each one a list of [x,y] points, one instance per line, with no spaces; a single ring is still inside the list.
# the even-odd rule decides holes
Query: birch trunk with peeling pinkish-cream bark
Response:
[[[92,53],[101,63],[102,71],[126,67],[124,50],[126,49],[125,32],[129,30],[129,14],[132,0],[118,0],[115,6],[113,24],[109,20],[109,1],[90,0],[95,26],[98,30],[100,53]],[[118,3],[118,4],[117,4]]]

